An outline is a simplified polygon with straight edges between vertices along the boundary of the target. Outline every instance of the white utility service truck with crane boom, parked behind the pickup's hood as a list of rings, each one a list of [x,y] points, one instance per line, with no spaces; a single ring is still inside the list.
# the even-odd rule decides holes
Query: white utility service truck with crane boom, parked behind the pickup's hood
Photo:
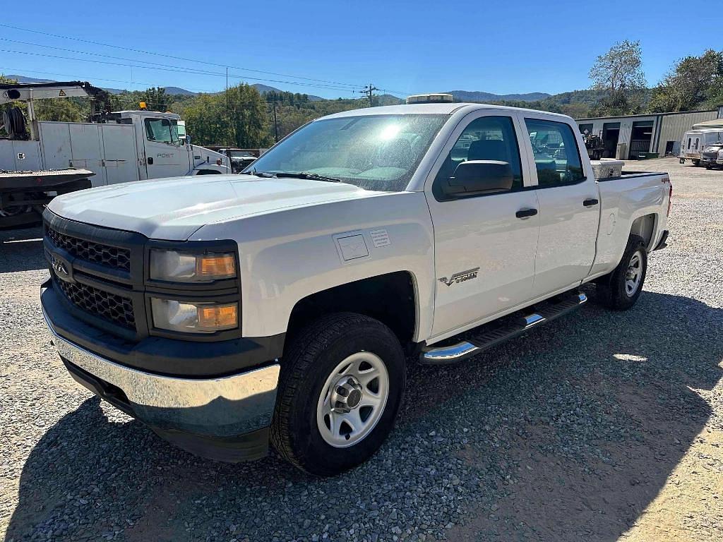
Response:
[[[175,113],[95,113],[90,122],[35,119],[34,100],[93,98],[87,82],[0,85],[0,228],[40,219],[56,194],[150,178],[231,173],[228,158],[191,145]],[[14,102],[27,104],[27,121]]]

